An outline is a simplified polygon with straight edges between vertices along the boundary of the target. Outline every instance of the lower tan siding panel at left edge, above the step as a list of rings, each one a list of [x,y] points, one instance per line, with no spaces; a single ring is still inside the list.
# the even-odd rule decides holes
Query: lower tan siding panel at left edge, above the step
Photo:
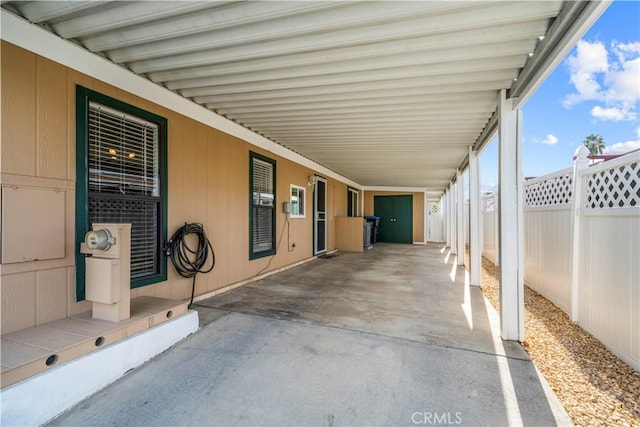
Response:
[[[36,273],[2,277],[2,334],[36,325]]]

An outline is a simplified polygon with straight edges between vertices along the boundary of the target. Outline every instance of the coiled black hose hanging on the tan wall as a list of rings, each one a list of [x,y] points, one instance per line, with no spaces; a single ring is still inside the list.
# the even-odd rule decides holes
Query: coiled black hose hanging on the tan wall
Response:
[[[195,234],[198,239],[198,246],[195,249],[190,248],[187,243],[187,236],[189,234]],[[205,265],[207,265],[209,253],[211,253],[212,259],[211,266],[204,269]],[[191,308],[196,290],[196,275],[198,273],[210,272],[216,263],[213,246],[211,246],[211,242],[207,238],[202,224],[185,223],[184,226],[180,227],[167,243],[166,254],[171,258],[171,262],[179,275],[187,278],[193,277],[191,300],[189,301],[189,308]]]

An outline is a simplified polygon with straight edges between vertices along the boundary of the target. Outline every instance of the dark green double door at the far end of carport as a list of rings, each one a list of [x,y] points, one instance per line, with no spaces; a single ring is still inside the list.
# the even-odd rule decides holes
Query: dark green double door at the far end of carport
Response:
[[[374,196],[373,212],[380,217],[379,242],[413,243],[413,196]]]

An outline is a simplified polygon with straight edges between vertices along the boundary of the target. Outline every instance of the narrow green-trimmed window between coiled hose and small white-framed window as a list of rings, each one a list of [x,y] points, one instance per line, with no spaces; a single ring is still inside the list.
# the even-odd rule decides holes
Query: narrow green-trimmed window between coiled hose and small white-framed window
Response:
[[[276,253],[276,161],[249,154],[249,259]]]

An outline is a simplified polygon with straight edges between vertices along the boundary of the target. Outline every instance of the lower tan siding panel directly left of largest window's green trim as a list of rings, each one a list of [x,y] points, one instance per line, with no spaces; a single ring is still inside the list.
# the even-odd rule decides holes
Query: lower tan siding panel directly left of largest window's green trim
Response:
[[[67,268],[36,272],[36,324],[67,315]]]

